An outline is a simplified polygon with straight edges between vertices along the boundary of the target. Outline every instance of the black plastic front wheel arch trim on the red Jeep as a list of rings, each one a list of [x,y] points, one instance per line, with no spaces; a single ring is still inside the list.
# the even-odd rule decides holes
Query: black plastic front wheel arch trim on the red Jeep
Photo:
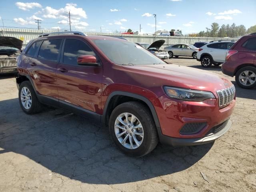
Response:
[[[145,106],[147,106],[148,109],[150,110],[152,117],[154,119],[154,122],[156,124],[157,130],[159,131],[160,123],[158,120],[158,116],[157,116],[156,110],[155,110],[153,104],[150,102],[150,100],[148,100],[144,96],[141,96],[141,95],[138,95],[135,93],[124,92],[124,91],[114,91],[108,96],[105,106],[104,106],[101,122],[104,124],[108,124],[110,114],[114,110],[114,108],[116,106],[118,106],[119,104],[122,104],[122,103],[128,102],[128,101],[138,101],[138,102],[142,102],[143,104],[145,104]]]

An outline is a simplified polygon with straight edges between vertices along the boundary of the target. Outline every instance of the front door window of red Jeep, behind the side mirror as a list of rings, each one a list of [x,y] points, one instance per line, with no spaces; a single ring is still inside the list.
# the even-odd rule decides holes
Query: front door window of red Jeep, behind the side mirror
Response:
[[[96,56],[93,50],[81,40],[66,39],[63,53],[63,63],[77,65],[77,58],[81,55]]]

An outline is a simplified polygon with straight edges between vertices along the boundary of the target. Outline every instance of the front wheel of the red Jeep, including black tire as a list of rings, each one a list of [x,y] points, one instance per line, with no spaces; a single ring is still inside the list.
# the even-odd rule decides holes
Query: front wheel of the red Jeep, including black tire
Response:
[[[134,115],[134,123],[130,122],[132,115]],[[128,126],[129,124],[131,125],[130,127],[126,124],[126,116],[129,121]],[[121,118],[126,126],[118,118]],[[132,124],[135,124],[138,128],[134,128]],[[151,112],[140,102],[125,102],[118,105],[110,115],[109,131],[116,146],[128,156],[144,156],[154,150],[158,144],[158,134]],[[135,132],[137,134],[143,133],[143,137],[135,134]],[[122,136],[117,138],[118,134],[122,134]],[[138,144],[136,144],[134,136]],[[126,137],[127,140],[124,141]],[[132,138],[132,145],[130,144],[130,137]],[[122,144],[121,142],[124,143]]]

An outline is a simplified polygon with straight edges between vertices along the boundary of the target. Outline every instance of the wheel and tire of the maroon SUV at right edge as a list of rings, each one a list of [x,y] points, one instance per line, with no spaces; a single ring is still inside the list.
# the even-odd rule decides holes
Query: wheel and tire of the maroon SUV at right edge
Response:
[[[245,82],[246,81],[246,82]],[[236,83],[238,86],[250,89],[256,86],[256,68],[243,67],[236,72]]]

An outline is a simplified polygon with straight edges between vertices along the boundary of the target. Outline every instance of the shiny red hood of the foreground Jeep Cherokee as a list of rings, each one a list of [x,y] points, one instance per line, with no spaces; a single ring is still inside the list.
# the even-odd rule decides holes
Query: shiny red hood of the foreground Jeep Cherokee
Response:
[[[230,80],[212,72],[172,64],[129,66],[133,78],[146,87],[175,86],[194,90],[210,91],[232,86]],[[145,82],[145,78],[150,81]]]

